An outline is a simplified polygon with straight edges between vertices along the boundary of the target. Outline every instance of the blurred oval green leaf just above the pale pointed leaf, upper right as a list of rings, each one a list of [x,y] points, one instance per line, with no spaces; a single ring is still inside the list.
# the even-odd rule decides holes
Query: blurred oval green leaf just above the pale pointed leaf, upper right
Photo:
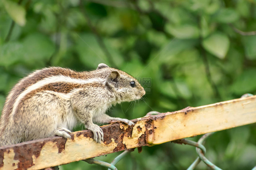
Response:
[[[220,23],[234,23],[239,15],[234,9],[224,8],[217,13],[215,19]]]

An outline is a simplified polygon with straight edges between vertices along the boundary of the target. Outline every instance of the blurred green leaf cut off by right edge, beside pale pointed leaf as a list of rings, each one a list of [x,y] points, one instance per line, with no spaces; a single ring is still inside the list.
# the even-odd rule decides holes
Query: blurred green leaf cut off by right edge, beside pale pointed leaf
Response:
[[[243,36],[242,42],[245,49],[246,58],[249,60],[256,59],[256,36]]]

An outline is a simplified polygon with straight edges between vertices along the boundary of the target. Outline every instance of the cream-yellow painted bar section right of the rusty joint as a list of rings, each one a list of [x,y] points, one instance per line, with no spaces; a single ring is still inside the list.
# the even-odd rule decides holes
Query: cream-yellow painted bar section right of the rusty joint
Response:
[[[152,144],[230,129],[256,122],[256,96],[165,113],[154,121]]]

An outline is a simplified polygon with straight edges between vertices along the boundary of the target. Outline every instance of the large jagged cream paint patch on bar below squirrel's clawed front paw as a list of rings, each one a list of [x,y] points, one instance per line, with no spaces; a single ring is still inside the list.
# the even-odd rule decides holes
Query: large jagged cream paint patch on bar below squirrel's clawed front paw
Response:
[[[40,156],[32,155],[33,164],[35,165],[28,168],[28,170],[44,168],[41,164],[42,162],[45,165],[57,166],[70,162],[70,160],[79,161],[96,157],[100,151],[104,151],[107,154],[108,151],[112,151],[116,146],[117,143],[115,143],[114,139],[106,145],[103,142],[101,144],[96,143],[92,138],[79,136],[74,140],[68,139],[65,144],[65,150],[59,153],[56,142],[47,142],[42,147]]]

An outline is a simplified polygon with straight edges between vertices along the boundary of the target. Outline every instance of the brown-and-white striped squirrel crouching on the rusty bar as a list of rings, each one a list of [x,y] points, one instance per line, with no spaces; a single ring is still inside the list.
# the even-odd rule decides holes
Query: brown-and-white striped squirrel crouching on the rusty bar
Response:
[[[145,90],[124,71],[99,64],[96,70],[76,72],[50,67],[21,79],[9,93],[0,120],[0,146],[51,136],[71,138],[77,123],[103,141],[96,123],[132,121],[105,114],[116,103],[140,99]]]

